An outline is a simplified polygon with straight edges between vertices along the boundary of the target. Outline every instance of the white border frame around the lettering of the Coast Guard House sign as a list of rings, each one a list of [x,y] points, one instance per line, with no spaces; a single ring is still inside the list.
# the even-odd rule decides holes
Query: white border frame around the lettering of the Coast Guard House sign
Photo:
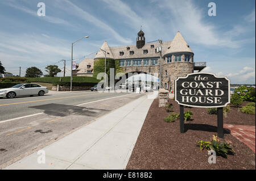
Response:
[[[179,79],[184,79],[184,78],[188,78],[188,76],[189,75],[195,75],[195,74],[210,74],[210,75],[213,75],[215,78],[225,78],[227,81],[228,81],[228,86],[229,86],[229,88],[228,88],[228,90],[229,90],[229,93],[228,93],[228,95],[229,95],[229,98],[228,98],[228,102],[225,104],[225,105],[223,105],[223,106],[193,106],[193,105],[189,105],[189,104],[181,104],[178,100],[177,100],[177,91],[176,91],[176,88],[177,88],[177,81],[179,80]],[[186,75],[186,77],[178,77],[177,79],[175,79],[175,101],[178,103],[178,104],[180,104],[180,105],[183,105],[183,106],[189,106],[189,107],[201,107],[201,108],[214,108],[214,107],[226,107],[228,104],[230,104],[230,80],[228,79],[228,78],[226,78],[225,76],[224,77],[217,77],[215,74],[212,74],[212,73],[200,73],[200,72],[197,72],[197,73],[191,73],[191,74],[187,74]]]

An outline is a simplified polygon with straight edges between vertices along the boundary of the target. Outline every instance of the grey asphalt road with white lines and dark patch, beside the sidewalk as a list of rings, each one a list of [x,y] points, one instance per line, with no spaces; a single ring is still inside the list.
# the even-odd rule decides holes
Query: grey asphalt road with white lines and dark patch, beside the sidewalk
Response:
[[[0,99],[0,168],[139,96],[82,91]]]

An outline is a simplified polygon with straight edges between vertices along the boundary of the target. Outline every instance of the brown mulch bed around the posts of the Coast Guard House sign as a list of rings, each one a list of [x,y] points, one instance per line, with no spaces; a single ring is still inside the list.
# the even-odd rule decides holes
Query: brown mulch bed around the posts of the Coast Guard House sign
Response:
[[[170,100],[173,110],[179,113],[179,104]],[[238,112],[238,108],[224,118],[224,124],[255,125],[255,115]],[[255,154],[243,142],[225,129],[224,140],[232,141],[235,155],[228,159],[217,157],[217,163],[208,163],[208,151],[201,151],[197,141],[210,141],[217,132],[217,115],[209,115],[207,108],[184,108],[193,112],[193,121],[185,124],[180,133],[179,120],[166,123],[165,108],[158,107],[158,99],[147,113],[141,133],[134,146],[126,169],[255,169]]]

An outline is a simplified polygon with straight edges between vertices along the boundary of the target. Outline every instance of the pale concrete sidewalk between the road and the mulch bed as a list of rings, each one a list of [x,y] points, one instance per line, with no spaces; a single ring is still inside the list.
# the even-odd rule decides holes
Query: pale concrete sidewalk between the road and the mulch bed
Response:
[[[154,99],[134,100],[5,169],[125,169]]]

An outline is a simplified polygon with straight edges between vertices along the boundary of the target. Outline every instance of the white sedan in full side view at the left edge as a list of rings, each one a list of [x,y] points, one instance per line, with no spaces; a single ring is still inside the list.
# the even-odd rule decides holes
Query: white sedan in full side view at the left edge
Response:
[[[36,83],[20,83],[8,89],[0,89],[0,98],[15,98],[15,96],[39,95],[48,93],[47,87]]]

